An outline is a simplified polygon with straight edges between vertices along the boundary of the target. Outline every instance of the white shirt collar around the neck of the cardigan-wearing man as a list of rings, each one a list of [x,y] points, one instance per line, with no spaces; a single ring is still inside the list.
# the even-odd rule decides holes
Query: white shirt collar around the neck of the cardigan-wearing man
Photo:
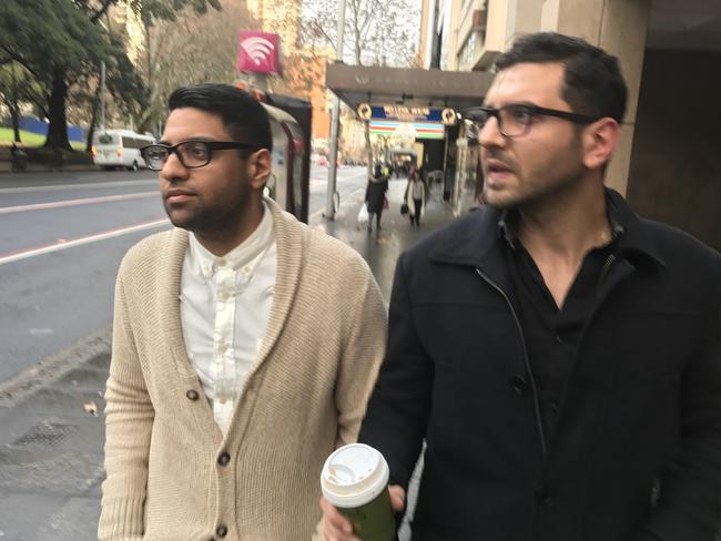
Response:
[[[222,257],[212,254],[194,233],[189,235],[189,256],[191,268],[205,279],[215,275],[220,267],[231,267],[237,270],[243,265],[252,262],[275,241],[273,232],[273,215],[267,204],[263,202],[263,218],[255,231],[241,244]]]

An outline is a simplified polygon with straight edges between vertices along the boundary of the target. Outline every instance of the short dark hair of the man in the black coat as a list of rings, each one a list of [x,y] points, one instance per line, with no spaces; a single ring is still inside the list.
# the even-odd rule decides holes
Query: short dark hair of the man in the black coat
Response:
[[[498,71],[531,62],[563,64],[561,96],[576,113],[623,121],[628,90],[618,58],[580,38],[537,32],[516,40],[496,60]]]

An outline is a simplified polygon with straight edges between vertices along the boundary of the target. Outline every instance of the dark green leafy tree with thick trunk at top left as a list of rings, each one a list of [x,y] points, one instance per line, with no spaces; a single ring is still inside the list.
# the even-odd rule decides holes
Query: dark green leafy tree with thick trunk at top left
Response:
[[[45,89],[50,121],[47,146],[70,149],[67,98],[72,82],[98,76],[108,68],[108,86],[130,111],[148,100],[146,89],[103,16],[121,0],[0,1],[0,65],[17,62]],[[187,8],[203,13],[219,0],[129,0],[143,20],[172,20]]]

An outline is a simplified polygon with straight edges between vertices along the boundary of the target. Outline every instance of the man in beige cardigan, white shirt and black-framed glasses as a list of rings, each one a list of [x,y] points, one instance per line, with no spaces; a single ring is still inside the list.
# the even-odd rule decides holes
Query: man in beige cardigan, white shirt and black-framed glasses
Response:
[[[311,539],[325,458],[354,441],[385,345],[365,262],[264,198],[266,111],[176,90],[159,144],[172,231],[115,288],[99,538]]]

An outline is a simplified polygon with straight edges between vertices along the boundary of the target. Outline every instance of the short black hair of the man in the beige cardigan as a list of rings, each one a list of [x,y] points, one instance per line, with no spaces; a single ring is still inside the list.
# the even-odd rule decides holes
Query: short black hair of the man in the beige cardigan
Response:
[[[170,111],[194,108],[217,114],[237,141],[273,151],[267,111],[251,94],[236,86],[221,83],[181,86],[167,99],[167,108]]]

